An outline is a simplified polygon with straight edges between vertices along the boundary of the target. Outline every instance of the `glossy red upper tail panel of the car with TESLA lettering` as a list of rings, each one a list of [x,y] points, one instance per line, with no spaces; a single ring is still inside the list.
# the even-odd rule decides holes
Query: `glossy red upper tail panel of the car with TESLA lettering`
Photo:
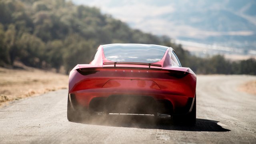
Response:
[[[155,68],[154,68],[155,67]],[[194,96],[196,76],[189,68],[163,69],[146,64],[106,64],[103,67],[77,66],[70,75],[69,90],[90,92],[133,92]],[[101,89],[103,88],[103,89]],[[84,91],[85,92],[85,91]]]

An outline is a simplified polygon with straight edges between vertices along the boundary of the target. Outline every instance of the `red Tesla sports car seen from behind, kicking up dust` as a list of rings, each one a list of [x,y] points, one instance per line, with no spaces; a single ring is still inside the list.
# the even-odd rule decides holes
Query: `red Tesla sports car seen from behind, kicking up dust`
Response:
[[[100,45],[90,64],[69,75],[68,120],[94,113],[169,115],[195,124],[196,75],[170,47]]]

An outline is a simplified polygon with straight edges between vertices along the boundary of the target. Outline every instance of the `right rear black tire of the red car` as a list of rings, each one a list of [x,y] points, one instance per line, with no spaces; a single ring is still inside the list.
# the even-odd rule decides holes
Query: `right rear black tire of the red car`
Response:
[[[182,116],[172,116],[174,123],[183,123],[186,125],[190,125],[193,126],[196,124],[196,97],[194,100],[194,105],[192,108],[192,111],[186,115],[182,115]]]

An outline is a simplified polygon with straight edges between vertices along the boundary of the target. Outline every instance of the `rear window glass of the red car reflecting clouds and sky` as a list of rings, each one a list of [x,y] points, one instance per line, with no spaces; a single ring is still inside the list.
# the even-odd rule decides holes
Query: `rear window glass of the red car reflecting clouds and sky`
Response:
[[[153,45],[106,45],[103,46],[105,57],[112,62],[160,61],[168,47]]]

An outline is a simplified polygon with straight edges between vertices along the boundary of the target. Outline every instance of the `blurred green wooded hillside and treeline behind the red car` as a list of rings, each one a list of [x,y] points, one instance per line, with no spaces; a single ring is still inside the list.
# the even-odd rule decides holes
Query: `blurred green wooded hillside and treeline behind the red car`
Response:
[[[182,62],[196,74],[256,75],[256,60],[232,62],[217,55],[192,56],[167,36],[132,29],[124,22],[101,14],[98,8],[76,6],[65,0],[0,1],[0,66],[26,66],[64,73],[76,64],[90,62],[100,44],[142,43],[172,46]]]

